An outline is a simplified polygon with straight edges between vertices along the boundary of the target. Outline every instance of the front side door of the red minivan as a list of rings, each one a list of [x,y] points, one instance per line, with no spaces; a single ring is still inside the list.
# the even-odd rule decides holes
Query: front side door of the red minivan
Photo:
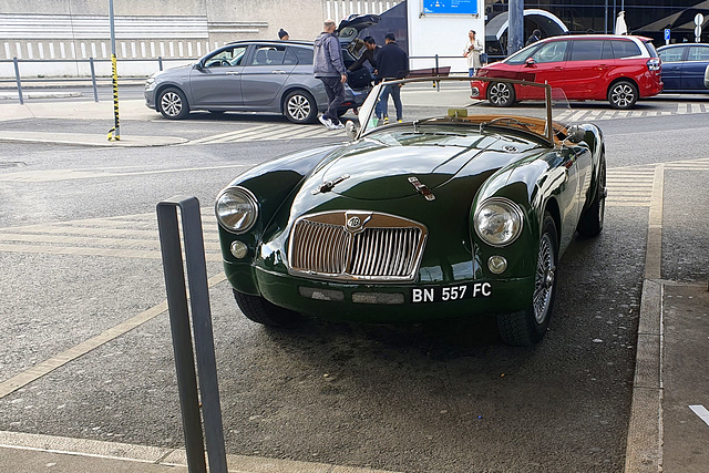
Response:
[[[547,83],[552,88],[561,88],[566,92],[565,65],[568,41],[549,41],[526,60],[520,69],[520,79],[531,80],[541,84]],[[520,99],[544,99],[544,90],[537,88],[524,88],[525,95]],[[567,94],[568,96],[568,94]]]

